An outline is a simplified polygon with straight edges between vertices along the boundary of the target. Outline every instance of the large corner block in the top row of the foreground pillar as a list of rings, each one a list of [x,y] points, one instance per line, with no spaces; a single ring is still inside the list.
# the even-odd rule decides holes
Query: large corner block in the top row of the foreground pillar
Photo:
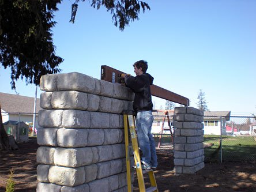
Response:
[[[93,93],[95,80],[93,77],[77,72],[58,74],[57,88],[59,91],[73,90]]]

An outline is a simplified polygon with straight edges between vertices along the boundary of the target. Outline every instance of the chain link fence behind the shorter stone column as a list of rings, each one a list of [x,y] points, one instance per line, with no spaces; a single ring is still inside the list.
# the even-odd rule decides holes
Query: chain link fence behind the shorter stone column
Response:
[[[173,115],[169,116],[170,126],[166,115],[153,115],[156,146],[172,148]],[[204,116],[204,149],[206,162],[256,161],[256,118]]]

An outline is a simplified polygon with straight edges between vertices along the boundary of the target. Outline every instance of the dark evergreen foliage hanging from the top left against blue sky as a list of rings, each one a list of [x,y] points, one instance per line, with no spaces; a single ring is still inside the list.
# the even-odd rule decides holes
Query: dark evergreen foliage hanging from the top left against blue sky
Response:
[[[85,0],[73,1],[70,22],[75,20],[78,3]],[[59,3],[61,0],[0,0],[0,63],[4,69],[10,67],[12,89],[18,78],[39,85],[42,75],[61,71],[63,59],[55,55],[51,33]],[[138,20],[141,10],[150,10],[147,3],[137,0],[92,0],[91,6],[106,7],[121,31]]]

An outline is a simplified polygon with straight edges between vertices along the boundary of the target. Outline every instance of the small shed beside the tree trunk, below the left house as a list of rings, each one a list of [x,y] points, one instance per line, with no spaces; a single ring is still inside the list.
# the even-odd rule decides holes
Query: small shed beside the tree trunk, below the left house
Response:
[[[16,142],[28,142],[28,125],[24,122],[6,121],[3,127],[7,135],[13,135]]]

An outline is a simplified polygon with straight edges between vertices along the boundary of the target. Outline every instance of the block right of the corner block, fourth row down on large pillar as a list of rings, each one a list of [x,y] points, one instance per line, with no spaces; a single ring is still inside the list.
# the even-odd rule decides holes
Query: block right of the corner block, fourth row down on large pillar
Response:
[[[103,129],[88,129],[88,146],[103,145],[104,130]]]

